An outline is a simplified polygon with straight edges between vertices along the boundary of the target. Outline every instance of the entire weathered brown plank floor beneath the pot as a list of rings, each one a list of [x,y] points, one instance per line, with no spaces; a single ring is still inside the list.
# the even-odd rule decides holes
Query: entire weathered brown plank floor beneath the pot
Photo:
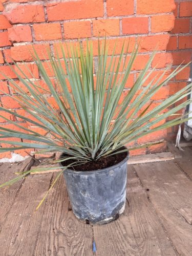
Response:
[[[127,202],[113,223],[92,226],[71,210],[61,177],[35,211],[56,174],[28,176],[0,191],[0,255],[192,255],[192,147],[182,158],[128,165]],[[22,164],[22,163],[21,163]],[[2,164],[1,183],[21,164]]]

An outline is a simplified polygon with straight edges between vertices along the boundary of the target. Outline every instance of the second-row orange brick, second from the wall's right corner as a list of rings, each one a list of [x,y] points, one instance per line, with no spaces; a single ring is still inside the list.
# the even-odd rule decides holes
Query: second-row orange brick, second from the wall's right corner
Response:
[[[148,33],[148,17],[133,17],[122,19],[123,34]]]

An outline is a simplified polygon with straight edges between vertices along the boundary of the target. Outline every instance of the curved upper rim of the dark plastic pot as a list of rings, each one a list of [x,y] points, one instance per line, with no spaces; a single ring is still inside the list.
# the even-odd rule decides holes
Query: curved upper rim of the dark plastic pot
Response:
[[[125,146],[124,146],[124,148],[126,148]],[[62,153],[63,154],[63,153]],[[62,156],[62,154],[59,156],[59,159],[60,159],[60,157]],[[129,155],[130,155],[130,152],[129,151],[127,151],[127,156],[121,161],[121,162],[119,162],[119,163],[117,163],[117,164],[115,164],[115,165],[112,165],[112,166],[110,166],[110,167],[106,167],[106,168],[103,168],[103,169],[97,169],[97,170],[80,170],[80,171],[77,171],[77,170],[71,170],[71,169],[65,169],[65,170],[63,170],[63,173],[66,173],[66,171],[67,171],[67,173],[72,173],[72,174],[81,174],[81,175],[84,175],[84,174],[86,174],[86,175],[88,175],[88,174],[95,174],[95,173],[104,173],[104,172],[108,172],[108,170],[110,170],[110,169],[113,169],[114,167],[117,167],[118,165],[121,165],[121,164],[123,164],[124,162],[126,162],[128,159],[129,159]],[[59,165],[61,165],[61,166],[63,166],[62,164],[61,164],[61,162],[59,162]]]

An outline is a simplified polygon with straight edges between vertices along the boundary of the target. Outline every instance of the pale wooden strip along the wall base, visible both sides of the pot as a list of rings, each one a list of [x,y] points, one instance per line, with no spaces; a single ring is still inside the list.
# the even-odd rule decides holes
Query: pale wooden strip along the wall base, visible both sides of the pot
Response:
[[[164,152],[164,153],[148,154],[143,156],[131,156],[129,157],[127,164],[151,163],[151,162],[169,161],[173,159],[175,159],[174,154],[172,154],[171,152]],[[43,167],[49,167],[49,166],[53,167],[53,165],[44,165]],[[58,164],[54,166],[58,166]],[[32,166],[31,170],[37,167],[38,166]],[[31,173],[31,175],[56,173],[60,171],[61,169],[55,169],[55,170],[52,169],[52,170],[46,170],[42,172]]]

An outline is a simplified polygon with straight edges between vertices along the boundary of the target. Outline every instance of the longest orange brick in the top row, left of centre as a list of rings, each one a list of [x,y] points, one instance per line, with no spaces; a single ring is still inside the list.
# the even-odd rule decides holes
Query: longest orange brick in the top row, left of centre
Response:
[[[79,0],[47,5],[48,20],[103,17],[102,0]]]

